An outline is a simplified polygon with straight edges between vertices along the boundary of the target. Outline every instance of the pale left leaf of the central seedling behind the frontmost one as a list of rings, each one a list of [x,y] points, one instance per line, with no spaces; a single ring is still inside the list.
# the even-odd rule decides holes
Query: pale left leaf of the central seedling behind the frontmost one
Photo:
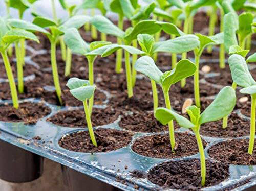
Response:
[[[135,63],[135,70],[146,75],[157,83],[161,83],[162,71],[158,69],[154,60],[149,56],[140,57]]]

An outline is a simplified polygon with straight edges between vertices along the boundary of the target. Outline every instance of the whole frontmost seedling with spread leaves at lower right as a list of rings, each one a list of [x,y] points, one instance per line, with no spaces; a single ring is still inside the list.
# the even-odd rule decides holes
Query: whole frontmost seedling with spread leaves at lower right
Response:
[[[236,92],[233,88],[226,86],[218,93],[215,100],[203,111],[203,113],[200,114],[200,108],[197,106],[189,106],[186,112],[189,115],[190,120],[166,108],[157,108],[155,112],[156,119],[163,125],[166,125],[172,120],[176,120],[181,127],[190,128],[195,133],[200,154],[202,187],[205,185],[206,166],[204,147],[199,133],[200,126],[207,122],[220,120],[231,113],[235,105]]]

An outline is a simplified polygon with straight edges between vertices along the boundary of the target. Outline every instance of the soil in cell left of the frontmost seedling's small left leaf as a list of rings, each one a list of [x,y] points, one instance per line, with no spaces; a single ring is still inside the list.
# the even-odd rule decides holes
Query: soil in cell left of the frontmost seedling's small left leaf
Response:
[[[158,122],[155,119],[153,112],[124,114],[118,125],[123,129],[135,132],[152,133],[168,130],[168,125],[162,125],[160,122]]]

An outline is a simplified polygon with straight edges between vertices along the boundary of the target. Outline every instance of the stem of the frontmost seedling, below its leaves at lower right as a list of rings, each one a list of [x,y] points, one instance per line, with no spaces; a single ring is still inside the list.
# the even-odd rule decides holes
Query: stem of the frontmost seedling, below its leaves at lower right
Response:
[[[205,156],[204,156],[204,147],[202,144],[202,140],[199,134],[199,128],[197,128],[196,131],[194,131],[197,139],[197,145],[199,149],[199,154],[200,154],[200,164],[201,164],[201,185],[202,187],[205,185],[205,176],[206,176],[206,166],[205,166]]]

